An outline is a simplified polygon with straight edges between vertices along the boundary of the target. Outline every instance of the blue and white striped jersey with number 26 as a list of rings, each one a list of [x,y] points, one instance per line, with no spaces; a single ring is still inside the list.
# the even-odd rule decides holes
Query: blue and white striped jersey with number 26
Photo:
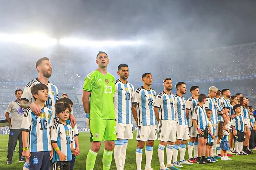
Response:
[[[138,104],[138,126],[157,125],[154,112],[156,92],[153,89],[147,91],[143,86],[137,88],[133,95],[133,101]]]

